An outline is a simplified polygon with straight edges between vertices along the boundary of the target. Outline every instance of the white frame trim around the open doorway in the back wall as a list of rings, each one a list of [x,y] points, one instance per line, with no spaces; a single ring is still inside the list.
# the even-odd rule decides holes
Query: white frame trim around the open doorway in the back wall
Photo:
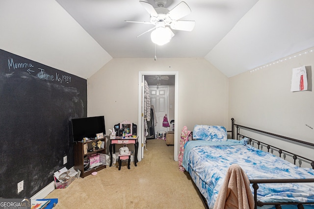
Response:
[[[141,149],[138,150],[138,159],[144,158],[144,142],[145,142],[145,128],[144,128],[144,117],[143,117],[143,107],[144,107],[144,76],[156,76],[156,75],[169,75],[174,76],[174,120],[178,121],[178,80],[179,72],[178,71],[139,71],[138,72],[138,136],[139,142],[141,142]],[[162,88],[162,85],[159,83],[158,88]],[[174,107],[173,107],[174,106]],[[163,115],[164,116],[164,115]],[[161,121],[162,124],[162,121]],[[177,137],[177,122],[175,123],[175,132],[174,132],[174,160],[178,161],[178,137]],[[169,129],[170,130],[170,129]]]

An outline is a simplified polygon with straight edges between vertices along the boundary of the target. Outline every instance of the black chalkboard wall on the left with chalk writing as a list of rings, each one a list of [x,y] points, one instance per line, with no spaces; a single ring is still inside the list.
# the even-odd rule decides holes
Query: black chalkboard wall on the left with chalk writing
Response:
[[[86,105],[86,79],[0,50],[0,197],[30,198],[73,166],[70,119]]]

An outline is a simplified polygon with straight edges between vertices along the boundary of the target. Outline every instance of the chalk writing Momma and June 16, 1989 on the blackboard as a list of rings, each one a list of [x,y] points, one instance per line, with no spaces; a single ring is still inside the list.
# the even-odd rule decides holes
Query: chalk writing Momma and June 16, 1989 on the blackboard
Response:
[[[12,72],[14,70],[25,70],[29,74],[35,74],[38,78],[47,80],[47,81],[55,81],[60,84],[69,84],[71,83],[71,76],[59,74],[55,72],[55,74],[50,75],[48,74],[45,69],[40,67],[34,67],[34,64],[27,63],[27,62],[14,62],[13,58],[8,59],[8,70]]]

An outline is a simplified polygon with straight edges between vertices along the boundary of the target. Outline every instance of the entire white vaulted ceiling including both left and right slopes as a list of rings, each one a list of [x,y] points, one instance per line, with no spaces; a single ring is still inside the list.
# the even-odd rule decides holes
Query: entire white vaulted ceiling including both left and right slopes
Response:
[[[157,59],[205,58],[232,77],[314,47],[314,0],[185,2],[195,28],[173,30]],[[1,49],[82,78],[112,58],[155,56],[150,33],[136,38],[152,25],[124,22],[149,21],[139,0],[1,0],[0,15]]]

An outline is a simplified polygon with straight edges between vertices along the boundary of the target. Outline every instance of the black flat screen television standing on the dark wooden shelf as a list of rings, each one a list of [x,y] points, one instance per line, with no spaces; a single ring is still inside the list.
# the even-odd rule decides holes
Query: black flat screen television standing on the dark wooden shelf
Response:
[[[95,138],[96,134],[103,133],[105,131],[105,117],[87,117],[71,119],[72,139],[73,142],[80,142],[84,137]]]

